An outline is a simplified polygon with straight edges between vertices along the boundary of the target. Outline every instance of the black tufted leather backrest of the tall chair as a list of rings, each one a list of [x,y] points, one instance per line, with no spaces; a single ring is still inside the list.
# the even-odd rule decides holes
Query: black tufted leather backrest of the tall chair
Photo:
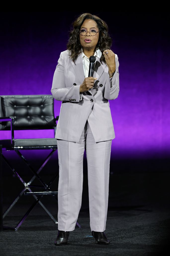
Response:
[[[0,116],[14,117],[14,130],[54,129],[53,95],[1,95]],[[0,130],[10,130],[10,123],[0,124]]]

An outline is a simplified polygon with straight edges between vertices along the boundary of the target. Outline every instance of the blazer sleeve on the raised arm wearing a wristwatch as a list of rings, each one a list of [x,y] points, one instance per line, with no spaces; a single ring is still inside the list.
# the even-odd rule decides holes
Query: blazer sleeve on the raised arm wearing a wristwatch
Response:
[[[104,88],[104,98],[107,100],[115,100],[119,95],[119,60],[115,54],[116,71],[113,77],[108,77]]]

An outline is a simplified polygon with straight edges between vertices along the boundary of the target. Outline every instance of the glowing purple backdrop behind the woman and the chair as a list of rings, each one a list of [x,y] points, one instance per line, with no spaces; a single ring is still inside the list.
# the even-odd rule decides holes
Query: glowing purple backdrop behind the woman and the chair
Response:
[[[71,23],[81,13],[1,13],[1,95],[51,94],[60,52],[66,50]],[[111,157],[168,156],[168,14],[92,14],[108,24],[120,63],[119,96],[109,101],[115,130]],[[55,100],[55,115],[60,106]],[[10,132],[0,131],[0,137],[10,138]],[[54,133],[15,131],[15,138],[43,137]]]

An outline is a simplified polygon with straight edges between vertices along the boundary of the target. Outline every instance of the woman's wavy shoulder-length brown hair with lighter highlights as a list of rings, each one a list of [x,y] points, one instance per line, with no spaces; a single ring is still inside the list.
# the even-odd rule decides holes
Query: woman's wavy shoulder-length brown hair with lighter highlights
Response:
[[[80,44],[80,38],[79,38],[79,31],[80,28],[84,22],[85,19],[93,19],[97,23],[97,26],[99,28],[99,41],[100,45],[97,44],[96,48],[99,47],[100,51],[102,52],[102,55],[100,57],[100,62],[104,62],[106,64],[106,60],[103,55],[103,51],[111,48],[112,45],[112,39],[108,34],[108,26],[106,22],[104,22],[102,19],[100,19],[96,15],[92,15],[91,13],[83,13],[78,16],[78,18],[71,24],[72,30],[69,31],[69,40],[67,43],[67,50],[70,51],[70,58],[75,63],[75,60],[77,59],[78,55],[82,52],[82,46]],[[96,50],[96,49],[95,49]]]

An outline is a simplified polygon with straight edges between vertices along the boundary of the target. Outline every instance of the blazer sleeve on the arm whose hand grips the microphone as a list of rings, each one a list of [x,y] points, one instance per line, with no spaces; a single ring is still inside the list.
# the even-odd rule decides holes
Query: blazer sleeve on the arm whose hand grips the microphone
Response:
[[[60,101],[71,101],[72,99],[74,102],[79,102],[82,99],[80,85],[66,87],[63,52],[60,53],[58,64],[54,72],[51,94],[54,99]]]

